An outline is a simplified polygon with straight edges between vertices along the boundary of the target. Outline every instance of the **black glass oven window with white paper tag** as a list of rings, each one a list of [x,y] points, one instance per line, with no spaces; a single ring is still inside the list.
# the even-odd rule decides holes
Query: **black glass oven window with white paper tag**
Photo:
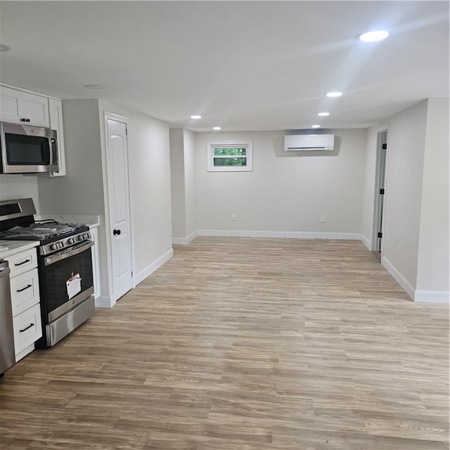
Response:
[[[94,285],[91,248],[86,247],[77,255],[67,255],[64,259],[41,267],[44,297],[41,302],[46,314],[82,295]]]

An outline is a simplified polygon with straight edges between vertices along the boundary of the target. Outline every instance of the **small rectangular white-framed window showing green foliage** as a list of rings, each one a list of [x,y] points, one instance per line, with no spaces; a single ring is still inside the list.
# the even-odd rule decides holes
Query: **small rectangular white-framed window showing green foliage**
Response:
[[[252,141],[208,142],[208,172],[251,172],[252,147]]]

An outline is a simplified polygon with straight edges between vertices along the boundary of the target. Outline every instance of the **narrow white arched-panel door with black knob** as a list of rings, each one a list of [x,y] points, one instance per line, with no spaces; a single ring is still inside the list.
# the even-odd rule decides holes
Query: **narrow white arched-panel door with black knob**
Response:
[[[113,301],[133,287],[127,122],[106,117]]]

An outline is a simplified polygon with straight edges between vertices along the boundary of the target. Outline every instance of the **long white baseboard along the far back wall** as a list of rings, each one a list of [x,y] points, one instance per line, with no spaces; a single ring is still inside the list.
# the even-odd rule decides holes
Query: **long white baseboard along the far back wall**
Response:
[[[291,238],[291,239],[349,239],[361,240],[361,233],[323,233],[309,231],[245,231],[245,230],[198,230],[198,236],[221,236],[236,238]]]

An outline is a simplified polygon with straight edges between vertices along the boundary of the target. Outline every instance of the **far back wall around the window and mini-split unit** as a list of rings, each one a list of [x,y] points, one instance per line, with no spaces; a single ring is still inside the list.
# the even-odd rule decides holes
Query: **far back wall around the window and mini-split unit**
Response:
[[[336,150],[285,152],[284,132],[195,135],[199,233],[361,231],[366,130],[330,130]],[[207,141],[253,141],[253,172],[207,172]],[[236,214],[236,221],[231,215]],[[326,223],[320,222],[326,215]]]

